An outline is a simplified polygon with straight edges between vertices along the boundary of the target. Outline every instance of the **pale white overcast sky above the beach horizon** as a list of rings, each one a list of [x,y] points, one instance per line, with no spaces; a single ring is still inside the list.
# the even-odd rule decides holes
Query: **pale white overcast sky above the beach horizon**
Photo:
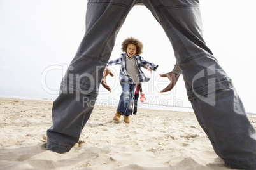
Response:
[[[86,3],[82,0],[0,1],[0,95],[56,98],[61,78],[85,33]],[[204,40],[232,78],[246,111],[254,113],[255,5],[255,0],[201,1]],[[159,65],[152,75],[145,70],[152,78],[143,87],[147,101],[191,107],[183,77],[172,92],[159,93],[169,83],[159,74],[171,71],[175,59],[164,31],[144,6],[134,7],[127,16],[110,60],[120,56],[122,41],[131,36],[143,42],[141,56]],[[115,78],[110,77],[108,82],[113,92],[110,94],[101,87],[99,100],[115,103],[120,96],[120,67],[111,69]]]

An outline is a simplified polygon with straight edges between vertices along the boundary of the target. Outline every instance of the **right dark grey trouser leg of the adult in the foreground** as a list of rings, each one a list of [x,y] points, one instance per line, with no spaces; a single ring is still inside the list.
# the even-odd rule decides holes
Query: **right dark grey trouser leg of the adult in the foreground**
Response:
[[[231,168],[256,169],[255,129],[231,79],[204,43],[199,2],[142,2],[173,45],[188,99],[215,152]]]

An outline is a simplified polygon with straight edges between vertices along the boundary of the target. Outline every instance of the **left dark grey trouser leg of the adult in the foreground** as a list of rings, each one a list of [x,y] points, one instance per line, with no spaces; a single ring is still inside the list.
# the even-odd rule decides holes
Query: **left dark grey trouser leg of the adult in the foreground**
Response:
[[[68,152],[78,142],[94,108],[117,33],[134,4],[134,0],[88,1],[85,36],[53,103],[47,150]]]

